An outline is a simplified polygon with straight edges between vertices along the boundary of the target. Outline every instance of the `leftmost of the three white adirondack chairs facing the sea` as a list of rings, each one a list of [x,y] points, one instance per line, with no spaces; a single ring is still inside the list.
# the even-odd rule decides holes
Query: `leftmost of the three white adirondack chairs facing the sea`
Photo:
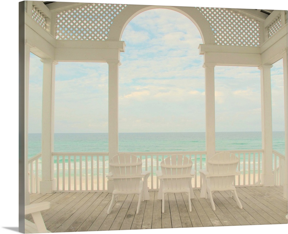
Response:
[[[118,154],[110,160],[110,172],[107,176],[114,181],[114,191],[107,214],[110,214],[120,194],[139,194],[136,213],[139,212],[141,198],[149,200],[147,179],[150,172],[142,172],[142,161],[133,154]]]

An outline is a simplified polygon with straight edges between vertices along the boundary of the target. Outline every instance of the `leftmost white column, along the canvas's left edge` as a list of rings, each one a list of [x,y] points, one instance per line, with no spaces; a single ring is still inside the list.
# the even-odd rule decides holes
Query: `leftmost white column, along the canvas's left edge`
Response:
[[[25,175],[25,183],[24,183],[24,193],[25,193],[25,205],[30,204],[30,193],[29,193],[29,177],[28,177],[28,119],[29,119],[29,70],[30,70],[30,49],[33,47],[30,43],[25,43],[25,100],[24,100],[24,112],[25,112],[25,122],[24,122],[24,175]]]

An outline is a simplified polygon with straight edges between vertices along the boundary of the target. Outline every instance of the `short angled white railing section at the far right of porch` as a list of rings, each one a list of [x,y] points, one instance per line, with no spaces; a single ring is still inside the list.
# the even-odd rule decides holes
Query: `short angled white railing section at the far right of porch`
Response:
[[[283,185],[285,180],[285,156],[276,150],[273,153],[274,185]]]

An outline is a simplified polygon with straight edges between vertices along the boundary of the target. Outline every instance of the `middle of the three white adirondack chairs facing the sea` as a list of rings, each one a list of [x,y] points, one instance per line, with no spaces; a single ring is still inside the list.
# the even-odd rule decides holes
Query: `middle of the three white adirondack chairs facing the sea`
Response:
[[[162,213],[166,193],[188,193],[189,210],[192,211],[191,197],[194,198],[194,192],[191,179],[195,175],[192,165],[192,161],[181,154],[171,155],[161,162],[161,171],[156,171],[156,174],[160,179],[158,199],[162,195]]]

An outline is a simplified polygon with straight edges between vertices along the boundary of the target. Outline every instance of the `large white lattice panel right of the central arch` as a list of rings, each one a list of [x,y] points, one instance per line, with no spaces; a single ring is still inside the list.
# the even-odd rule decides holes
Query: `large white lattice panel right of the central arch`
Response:
[[[217,45],[260,45],[259,21],[225,8],[197,7],[210,23]]]

